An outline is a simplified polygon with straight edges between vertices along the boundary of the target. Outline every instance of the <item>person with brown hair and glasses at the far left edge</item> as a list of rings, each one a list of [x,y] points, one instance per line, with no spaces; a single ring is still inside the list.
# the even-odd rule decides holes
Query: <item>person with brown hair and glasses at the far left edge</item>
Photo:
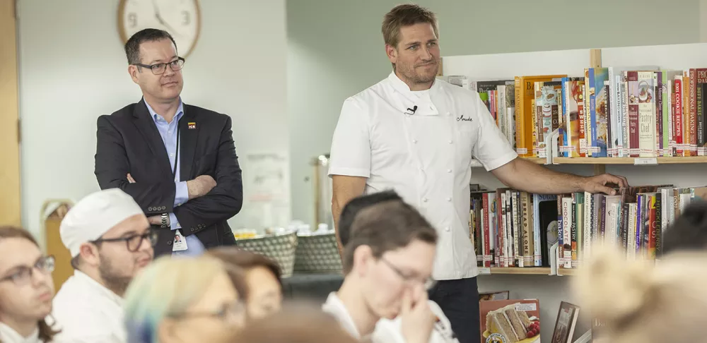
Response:
[[[54,258],[17,227],[0,227],[0,342],[47,343],[57,331],[52,312]]]

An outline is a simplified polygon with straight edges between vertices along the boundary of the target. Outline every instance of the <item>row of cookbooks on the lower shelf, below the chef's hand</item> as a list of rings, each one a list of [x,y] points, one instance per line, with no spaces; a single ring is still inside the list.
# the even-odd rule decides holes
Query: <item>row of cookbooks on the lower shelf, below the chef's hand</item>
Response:
[[[629,259],[655,259],[667,226],[687,205],[707,199],[707,186],[615,189],[617,195],[472,191],[469,239],[477,264],[549,267],[558,243],[558,267],[576,268],[597,241],[623,248]]]

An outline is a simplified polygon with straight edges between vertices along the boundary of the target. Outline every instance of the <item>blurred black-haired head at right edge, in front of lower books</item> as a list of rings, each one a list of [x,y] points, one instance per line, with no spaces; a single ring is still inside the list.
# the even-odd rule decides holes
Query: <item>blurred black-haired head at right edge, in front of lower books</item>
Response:
[[[675,251],[707,250],[707,202],[688,205],[662,234],[659,255]]]

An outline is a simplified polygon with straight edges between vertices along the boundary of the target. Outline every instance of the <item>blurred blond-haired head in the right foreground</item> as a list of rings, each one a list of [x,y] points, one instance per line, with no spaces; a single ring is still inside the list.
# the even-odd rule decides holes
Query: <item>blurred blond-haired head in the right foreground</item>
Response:
[[[573,287],[580,306],[606,323],[595,342],[707,342],[707,253],[655,262],[597,246],[579,272]]]

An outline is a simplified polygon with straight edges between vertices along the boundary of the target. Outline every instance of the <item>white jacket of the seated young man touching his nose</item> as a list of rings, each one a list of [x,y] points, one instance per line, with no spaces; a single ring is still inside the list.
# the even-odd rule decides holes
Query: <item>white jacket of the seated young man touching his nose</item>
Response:
[[[428,300],[428,303],[432,313],[438,318],[438,322],[432,330],[432,335],[430,335],[429,343],[459,343],[452,334],[452,325],[442,312],[442,308],[434,301]],[[361,334],[356,328],[354,319],[351,318],[346,306],[344,306],[344,303],[341,302],[335,292],[329,294],[327,301],[322,305],[322,310],[332,315],[339,322],[339,325],[346,332],[349,332],[349,335],[361,340]],[[393,320],[381,318],[378,323],[375,323],[375,329],[370,335],[370,340],[373,343],[405,343],[401,324],[400,318]]]

